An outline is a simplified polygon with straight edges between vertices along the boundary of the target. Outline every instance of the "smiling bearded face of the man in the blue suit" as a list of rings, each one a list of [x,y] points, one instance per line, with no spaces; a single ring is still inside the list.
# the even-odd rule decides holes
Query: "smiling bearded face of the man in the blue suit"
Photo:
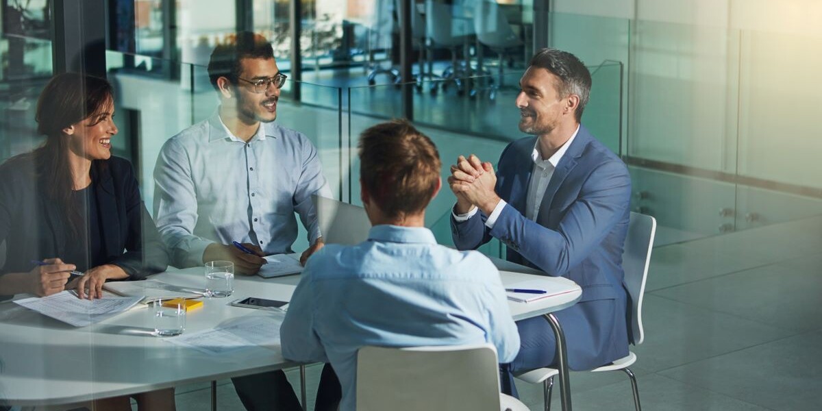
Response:
[[[559,81],[544,68],[532,66],[525,71],[520,79],[520,94],[516,97],[516,106],[520,109],[520,132],[542,136],[551,134],[561,122],[575,121],[570,96],[561,96],[557,92]]]

